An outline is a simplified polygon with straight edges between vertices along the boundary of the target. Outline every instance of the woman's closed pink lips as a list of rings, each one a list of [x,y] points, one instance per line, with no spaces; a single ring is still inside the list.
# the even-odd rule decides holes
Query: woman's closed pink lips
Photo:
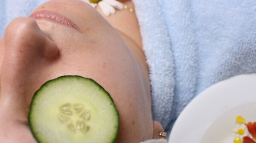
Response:
[[[47,11],[47,10],[37,11],[37,12],[31,14],[29,17],[34,18],[34,19],[45,18],[45,19],[49,19],[49,20],[54,20],[58,23],[75,28],[77,31],[81,32],[80,29],[76,26],[76,24],[74,22],[72,22],[70,19],[68,19],[64,15],[59,14],[58,12],[55,12],[55,11]]]

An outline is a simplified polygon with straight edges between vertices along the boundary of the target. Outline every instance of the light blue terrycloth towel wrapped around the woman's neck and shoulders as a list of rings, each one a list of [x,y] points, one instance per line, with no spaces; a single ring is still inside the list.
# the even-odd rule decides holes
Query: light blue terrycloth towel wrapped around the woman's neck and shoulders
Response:
[[[47,0],[1,0],[0,36]],[[256,0],[133,0],[150,68],[154,119],[166,130],[212,84],[256,72]]]

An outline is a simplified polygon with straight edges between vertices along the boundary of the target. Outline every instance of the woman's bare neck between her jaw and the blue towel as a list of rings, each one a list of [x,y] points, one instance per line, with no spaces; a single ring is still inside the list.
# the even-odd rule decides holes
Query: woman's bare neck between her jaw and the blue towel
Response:
[[[129,11],[129,8],[135,9],[134,3],[132,3],[131,0],[119,1],[128,6],[128,9],[117,10],[115,14],[112,14],[109,17],[106,17],[99,7],[96,7],[96,9],[102,15],[102,17],[104,17],[113,26],[113,28],[116,29],[120,36],[122,36],[123,40],[130,48],[131,53],[133,53],[142,73],[145,91],[148,95],[148,102],[151,102],[149,71],[142,48],[140,26],[136,13]]]

